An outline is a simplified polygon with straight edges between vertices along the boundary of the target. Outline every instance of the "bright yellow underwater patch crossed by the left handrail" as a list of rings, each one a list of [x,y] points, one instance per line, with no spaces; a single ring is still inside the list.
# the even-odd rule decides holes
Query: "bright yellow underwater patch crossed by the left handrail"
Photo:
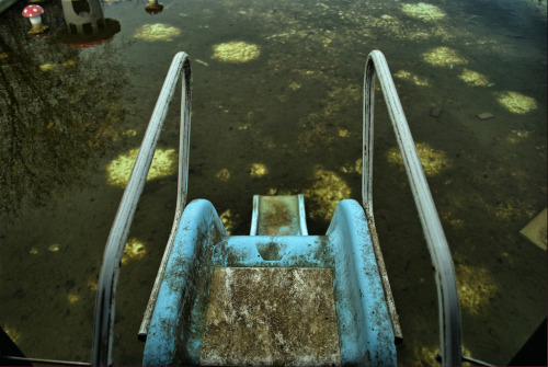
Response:
[[[125,154],[119,154],[106,168],[107,182],[111,185],[125,187],[137,159],[139,149],[132,149]],[[157,149],[147,181],[169,176],[176,172],[178,157],[175,149]]]

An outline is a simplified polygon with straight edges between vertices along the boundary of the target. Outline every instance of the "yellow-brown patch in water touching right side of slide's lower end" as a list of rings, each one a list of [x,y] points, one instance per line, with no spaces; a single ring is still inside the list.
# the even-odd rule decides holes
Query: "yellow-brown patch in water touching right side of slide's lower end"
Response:
[[[351,190],[333,171],[323,170],[321,167],[316,168],[313,180],[312,187],[305,190],[307,198],[315,203],[310,217],[330,220],[339,202],[350,197]]]

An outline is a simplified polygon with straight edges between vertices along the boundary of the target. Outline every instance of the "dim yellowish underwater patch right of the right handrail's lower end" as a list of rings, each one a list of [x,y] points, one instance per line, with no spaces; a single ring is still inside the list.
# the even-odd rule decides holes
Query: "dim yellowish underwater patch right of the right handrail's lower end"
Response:
[[[460,307],[470,314],[480,314],[489,308],[498,287],[486,268],[459,264],[457,273]]]

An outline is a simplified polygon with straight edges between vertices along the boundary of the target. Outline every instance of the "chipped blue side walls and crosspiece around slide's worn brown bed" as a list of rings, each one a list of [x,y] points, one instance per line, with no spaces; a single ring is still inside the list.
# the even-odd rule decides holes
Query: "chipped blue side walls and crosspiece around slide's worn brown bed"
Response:
[[[229,237],[213,205],[184,210],[145,346],[144,365],[199,364],[215,266],[331,268],[343,365],[396,365],[396,347],[367,220],[342,200],[326,236]]]

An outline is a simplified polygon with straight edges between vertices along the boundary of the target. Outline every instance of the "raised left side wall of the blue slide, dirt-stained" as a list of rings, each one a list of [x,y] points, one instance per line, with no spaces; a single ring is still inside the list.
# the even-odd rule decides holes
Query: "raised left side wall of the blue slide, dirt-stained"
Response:
[[[183,364],[198,364],[207,306],[207,295],[198,290],[210,280],[215,244],[227,236],[209,202],[199,199],[186,206],[148,329],[144,366],[182,364],[176,358]]]

